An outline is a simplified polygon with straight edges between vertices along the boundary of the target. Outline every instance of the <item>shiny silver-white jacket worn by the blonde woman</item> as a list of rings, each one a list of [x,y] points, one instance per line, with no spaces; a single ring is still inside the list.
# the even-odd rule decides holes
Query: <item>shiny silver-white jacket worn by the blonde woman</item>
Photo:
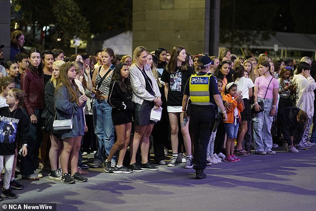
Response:
[[[153,82],[153,88],[155,91],[155,94],[157,97],[161,97],[160,91],[159,91],[159,87],[157,84],[157,81],[153,75],[153,72],[150,68],[149,65],[145,66],[145,72],[146,74],[150,77],[150,79]],[[146,90],[146,81],[145,78],[141,72],[141,70],[139,70],[136,66],[136,64],[133,64],[130,67],[130,76],[131,76],[131,86],[133,89],[133,93],[132,93],[132,101],[134,103],[138,103],[138,104],[143,104],[144,100],[148,100],[148,101],[154,101],[155,96],[151,95],[147,90]]]

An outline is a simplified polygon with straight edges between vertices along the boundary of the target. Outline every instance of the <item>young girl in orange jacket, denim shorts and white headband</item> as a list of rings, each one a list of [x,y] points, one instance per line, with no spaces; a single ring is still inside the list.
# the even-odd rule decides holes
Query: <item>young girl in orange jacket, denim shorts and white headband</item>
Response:
[[[227,110],[228,120],[224,122],[227,134],[226,158],[224,161],[237,162],[240,161],[240,159],[234,155],[234,139],[237,139],[240,112],[244,110],[244,105],[242,95],[237,96],[237,84],[235,82],[230,82],[226,85],[223,100],[231,102],[233,107]]]

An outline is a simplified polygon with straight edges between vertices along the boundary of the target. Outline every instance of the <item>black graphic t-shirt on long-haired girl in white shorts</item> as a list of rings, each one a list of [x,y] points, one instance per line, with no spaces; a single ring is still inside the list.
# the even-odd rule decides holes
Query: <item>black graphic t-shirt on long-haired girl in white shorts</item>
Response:
[[[176,70],[175,73],[169,73],[163,70],[161,80],[169,84],[167,106],[181,106],[184,86],[187,79],[193,73],[193,68],[187,66],[186,71]]]

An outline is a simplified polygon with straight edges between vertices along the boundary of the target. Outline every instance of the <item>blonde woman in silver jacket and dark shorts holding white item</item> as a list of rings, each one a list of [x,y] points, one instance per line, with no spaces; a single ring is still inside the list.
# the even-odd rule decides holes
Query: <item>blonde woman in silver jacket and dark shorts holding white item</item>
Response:
[[[131,86],[133,89],[132,102],[135,104],[134,125],[135,134],[131,141],[130,168],[135,172],[143,172],[143,169],[158,170],[148,160],[149,137],[154,123],[150,120],[152,109],[158,109],[161,102],[161,94],[153,72],[147,64],[147,50],[143,46],[135,48],[133,64],[130,67]],[[141,145],[142,163],[136,163],[136,153]]]

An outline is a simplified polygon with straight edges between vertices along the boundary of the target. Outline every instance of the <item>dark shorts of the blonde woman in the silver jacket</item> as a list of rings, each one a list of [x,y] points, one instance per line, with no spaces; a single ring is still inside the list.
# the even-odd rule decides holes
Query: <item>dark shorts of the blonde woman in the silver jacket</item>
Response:
[[[149,124],[155,124],[151,121],[151,111],[155,103],[152,101],[144,100],[143,104],[135,103],[134,106],[134,124],[138,126],[145,126]]]

